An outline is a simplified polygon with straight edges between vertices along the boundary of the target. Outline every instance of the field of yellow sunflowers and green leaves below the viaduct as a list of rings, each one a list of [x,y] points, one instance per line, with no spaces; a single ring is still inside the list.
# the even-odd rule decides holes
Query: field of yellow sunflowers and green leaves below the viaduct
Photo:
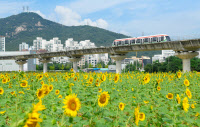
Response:
[[[0,127],[200,126],[200,73],[0,73]]]

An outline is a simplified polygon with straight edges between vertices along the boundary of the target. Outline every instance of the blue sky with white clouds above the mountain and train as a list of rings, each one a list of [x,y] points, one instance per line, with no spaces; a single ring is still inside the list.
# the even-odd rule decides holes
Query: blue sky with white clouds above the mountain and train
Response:
[[[131,37],[200,38],[200,0],[0,0],[0,18],[23,6],[66,26],[91,25]]]

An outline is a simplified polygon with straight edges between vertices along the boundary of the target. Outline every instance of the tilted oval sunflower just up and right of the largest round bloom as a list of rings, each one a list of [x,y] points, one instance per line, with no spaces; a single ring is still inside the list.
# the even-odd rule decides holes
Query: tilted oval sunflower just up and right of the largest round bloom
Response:
[[[108,92],[103,92],[101,93],[101,95],[98,98],[98,105],[100,107],[104,107],[108,104],[108,100],[110,99],[110,96],[108,94]]]

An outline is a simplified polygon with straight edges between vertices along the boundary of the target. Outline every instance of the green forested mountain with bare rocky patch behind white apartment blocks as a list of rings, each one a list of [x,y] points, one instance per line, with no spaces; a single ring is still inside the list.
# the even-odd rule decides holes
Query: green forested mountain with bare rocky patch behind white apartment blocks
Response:
[[[0,36],[6,36],[6,51],[19,50],[19,44],[22,42],[32,46],[36,37],[42,37],[46,40],[58,37],[62,44],[68,38],[73,38],[75,41],[90,40],[96,46],[111,46],[113,40],[128,37],[88,25],[65,26],[44,19],[33,12],[23,12],[7,18],[0,18]],[[152,53],[158,54],[158,51]]]

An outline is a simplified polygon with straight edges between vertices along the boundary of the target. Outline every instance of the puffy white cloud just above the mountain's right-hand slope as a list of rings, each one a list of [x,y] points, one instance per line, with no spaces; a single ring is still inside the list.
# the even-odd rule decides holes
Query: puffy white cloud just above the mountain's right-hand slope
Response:
[[[91,19],[81,19],[81,16],[69,8],[63,6],[56,6],[55,12],[58,22],[67,26],[90,25],[106,29],[108,23],[103,19],[92,21]]]

